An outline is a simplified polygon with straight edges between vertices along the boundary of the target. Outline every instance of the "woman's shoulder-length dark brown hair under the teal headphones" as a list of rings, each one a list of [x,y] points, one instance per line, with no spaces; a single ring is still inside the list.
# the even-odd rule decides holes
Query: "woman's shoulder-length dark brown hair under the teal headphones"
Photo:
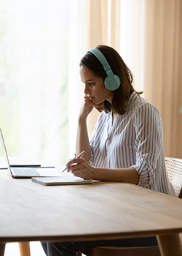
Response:
[[[126,112],[125,104],[128,97],[130,97],[132,91],[135,91],[132,86],[132,72],[124,63],[119,53],[114,50],[114,48],[106,45],[98,45],[96,48],[98,48],[98,50],[103,53],[103,56],[105,56],[106,60],[108,61],[111,70],[115,75],[119,76],[121,81],[121,85],[119,86],[119,88],[114,91],[112,104],[105,100],[105,111],[106,113],[108,113],[113,110],[115,113],[119,113],[120,115],[122,115]],[[93,55],[89,51],[81,59],[80,66],[87,67],[95,76],[103,78],[103,80],[105,80],[107,76],[106,71],[103,69],[103,65],[100,63],[97,57],[95,57],[95,55]],[[142,92],[135,92],[137,94],[142,94]]]

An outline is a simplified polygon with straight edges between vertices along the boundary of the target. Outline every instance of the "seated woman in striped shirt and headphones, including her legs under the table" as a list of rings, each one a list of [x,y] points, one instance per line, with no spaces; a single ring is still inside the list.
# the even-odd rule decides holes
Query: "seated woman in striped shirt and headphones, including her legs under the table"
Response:
[[[133,88],[132,72],[119,53],[106,45],[89,50],[80,62],[80,77],[85,96],[78,119],[76,154],[86,153],[67,163],[68,172],[82,178],[138,184],[174,196],[165,169],[162,118]],[[100,116],[89,137],[87,116],[93,108]],[[87,246],[104,245],[152,246],[157,245],[157,239],[42,243],[48,256],[73,256]]]

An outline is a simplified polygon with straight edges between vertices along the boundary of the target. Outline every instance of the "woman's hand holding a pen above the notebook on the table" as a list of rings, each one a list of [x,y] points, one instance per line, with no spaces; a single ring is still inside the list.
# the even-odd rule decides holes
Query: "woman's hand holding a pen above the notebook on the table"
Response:
[[[94,179],[95,167],[92,167],[84,158],[71,159],[66,166],[68,167],[67,172],[71,172],[76,177]]]

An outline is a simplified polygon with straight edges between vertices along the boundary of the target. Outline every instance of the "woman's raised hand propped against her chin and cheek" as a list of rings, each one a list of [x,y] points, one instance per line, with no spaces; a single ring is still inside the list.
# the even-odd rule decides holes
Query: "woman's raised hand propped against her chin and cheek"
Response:
[[[99,112],[103,111],[103,103],[96,105],[92,100],[85,94],[82,108],[79,113],[80,118],[87,119],[87,116],[92,112],[92,109],[96,108]]]

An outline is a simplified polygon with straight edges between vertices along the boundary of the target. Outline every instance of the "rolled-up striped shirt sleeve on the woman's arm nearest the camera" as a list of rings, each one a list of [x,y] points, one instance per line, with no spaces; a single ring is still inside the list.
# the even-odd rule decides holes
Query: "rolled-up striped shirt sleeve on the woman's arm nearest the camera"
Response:
[[[132,167],[140,175],[139,186],[148,186],[155,178],[157,159],[160,154],[160,140],[163,141],[162,118],[154,105],[141,105],[135,113],[136,165]]]

